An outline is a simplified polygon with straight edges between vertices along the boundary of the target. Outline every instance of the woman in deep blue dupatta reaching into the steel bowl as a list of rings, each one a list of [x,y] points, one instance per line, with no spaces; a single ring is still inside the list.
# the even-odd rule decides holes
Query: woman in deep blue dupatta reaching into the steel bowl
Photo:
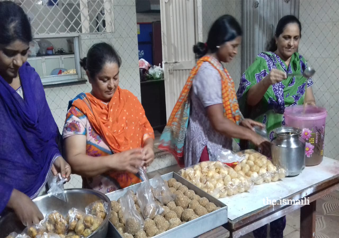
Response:
[[[0,215],[13,209],[24,225],[43,216],[31,199],[49,172],[69,178],[58,127],[37,72],[27,62],[31,25],[15,3],[0,2]]]

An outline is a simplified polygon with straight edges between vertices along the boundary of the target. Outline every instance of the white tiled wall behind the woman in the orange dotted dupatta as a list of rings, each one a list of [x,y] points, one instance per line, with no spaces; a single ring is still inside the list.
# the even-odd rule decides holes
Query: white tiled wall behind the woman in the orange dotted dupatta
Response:
[[[114,33],[81,35],[80,56],[86,56],[89,47],[94,43],[107,42],[112,44],[122,59],[119,86],[130,90],[141,100],[134,0],[114,1],[114,26]],[[88,82],[77,85],[45,87],[46,99],[60,132],[64,125],[68,101],[81,92],[90,91],[91,85]],[[81,186],[80,176],[72,175],[71,181],[65,185],[65,188],[81,188]]]

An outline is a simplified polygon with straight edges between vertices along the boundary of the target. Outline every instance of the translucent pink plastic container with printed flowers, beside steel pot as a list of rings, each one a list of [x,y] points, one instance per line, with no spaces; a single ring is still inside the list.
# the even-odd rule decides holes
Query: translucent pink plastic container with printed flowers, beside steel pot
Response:
[[[295,105],[285,108],[285,124],[302,130],[306,142],[305,165],[319,165],[324,154],[327,111],[323,107]]]

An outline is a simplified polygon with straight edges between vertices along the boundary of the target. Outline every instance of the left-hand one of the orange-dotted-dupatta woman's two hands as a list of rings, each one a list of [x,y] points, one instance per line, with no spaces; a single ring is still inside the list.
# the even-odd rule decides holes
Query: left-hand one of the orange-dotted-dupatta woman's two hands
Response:
[[[141,148],[138,148],[114,154],[113,156],[116,157],[116,159],[112,160],[115,164],[114,168],[116,170],[127,171],[134,174],[138,173],[139,167],[143,166],[144,163],[144,155],[141,152]]]

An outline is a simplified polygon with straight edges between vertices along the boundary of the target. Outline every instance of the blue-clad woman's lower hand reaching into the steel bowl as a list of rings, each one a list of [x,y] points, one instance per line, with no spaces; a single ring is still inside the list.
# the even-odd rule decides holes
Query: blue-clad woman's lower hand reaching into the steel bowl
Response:
[[[14,210],[15,214],[17,214],[25,226],[38,224],[43,219],[43,215],[37,205],[31,198],[19,190],[13,190],[7,206]]]

